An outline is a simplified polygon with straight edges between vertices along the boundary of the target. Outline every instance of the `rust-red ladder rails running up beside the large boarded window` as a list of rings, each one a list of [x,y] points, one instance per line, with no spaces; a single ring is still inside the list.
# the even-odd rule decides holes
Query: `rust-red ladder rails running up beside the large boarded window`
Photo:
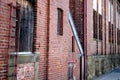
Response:
[[[14,69],[14,74],[15,74],[15,77],[14,77],[14,80],[17,80],[17,64],[18,64],[18,49],[19,49],[19,33],[20,33],[20,6],[18,7],[15,7],[11,4],[9,4],[10,6],[10,23],[9,23],[9,40],[8,40],[8,66],[7,66],[7,70],[8,70],[8,73],[9,73],[9,67],[15,67]],[[11,37],[11,28],[13,27],[12,26],[12,19],[14,19],[15,17],[13,17],[12,15],[12,12],[13,12],[13,9],[15,10],[19,10],[19,15],[18,15],[18,20],[17,20],[17,25],[16,25],[16,42],[15,42],[15,51],[16,51],[16,55],[15,55],[15,65],[10,65],[9,64],[9,60],[10,60],[10,37]],[[16,16],[16,15],[15,15]],[[14,75],[12,75],[14,76]],[[11,77],[11,75],[7,75],[7,78],[8,77]]]

